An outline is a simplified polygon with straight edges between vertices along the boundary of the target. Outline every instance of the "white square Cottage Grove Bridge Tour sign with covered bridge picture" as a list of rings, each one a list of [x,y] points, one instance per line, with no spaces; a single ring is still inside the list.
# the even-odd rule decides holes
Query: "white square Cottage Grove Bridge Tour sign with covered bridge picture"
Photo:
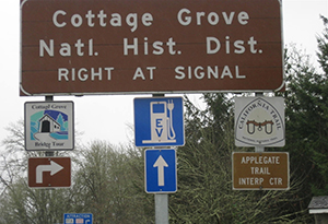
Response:
[[[27,151],[74,149],[73,102],[26,102],[24,111]]]

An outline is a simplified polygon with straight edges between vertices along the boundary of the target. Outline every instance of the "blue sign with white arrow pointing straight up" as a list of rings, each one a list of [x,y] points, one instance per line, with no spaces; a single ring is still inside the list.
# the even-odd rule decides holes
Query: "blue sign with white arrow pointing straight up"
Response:
[[[176,151],[174,149],[145,150],[144,175],[145,192],[176,192]]]

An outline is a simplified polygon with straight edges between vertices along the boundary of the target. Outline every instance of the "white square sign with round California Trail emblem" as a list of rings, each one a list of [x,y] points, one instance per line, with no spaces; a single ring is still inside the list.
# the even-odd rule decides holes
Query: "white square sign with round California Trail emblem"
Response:
[[[236,146],[284,146],[282,97],[235,97]]]

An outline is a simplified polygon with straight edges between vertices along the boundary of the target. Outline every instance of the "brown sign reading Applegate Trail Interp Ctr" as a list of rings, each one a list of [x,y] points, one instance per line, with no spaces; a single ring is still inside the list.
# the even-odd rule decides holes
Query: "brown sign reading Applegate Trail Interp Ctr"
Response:
[[[233,153],[234,190],[288,190],[289,153]]]

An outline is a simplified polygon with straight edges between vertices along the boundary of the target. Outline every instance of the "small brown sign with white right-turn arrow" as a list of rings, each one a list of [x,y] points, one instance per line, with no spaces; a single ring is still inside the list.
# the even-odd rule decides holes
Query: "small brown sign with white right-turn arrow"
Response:
[[[65,188],[71,186],[70,157],[28,158],[28,187]]]

